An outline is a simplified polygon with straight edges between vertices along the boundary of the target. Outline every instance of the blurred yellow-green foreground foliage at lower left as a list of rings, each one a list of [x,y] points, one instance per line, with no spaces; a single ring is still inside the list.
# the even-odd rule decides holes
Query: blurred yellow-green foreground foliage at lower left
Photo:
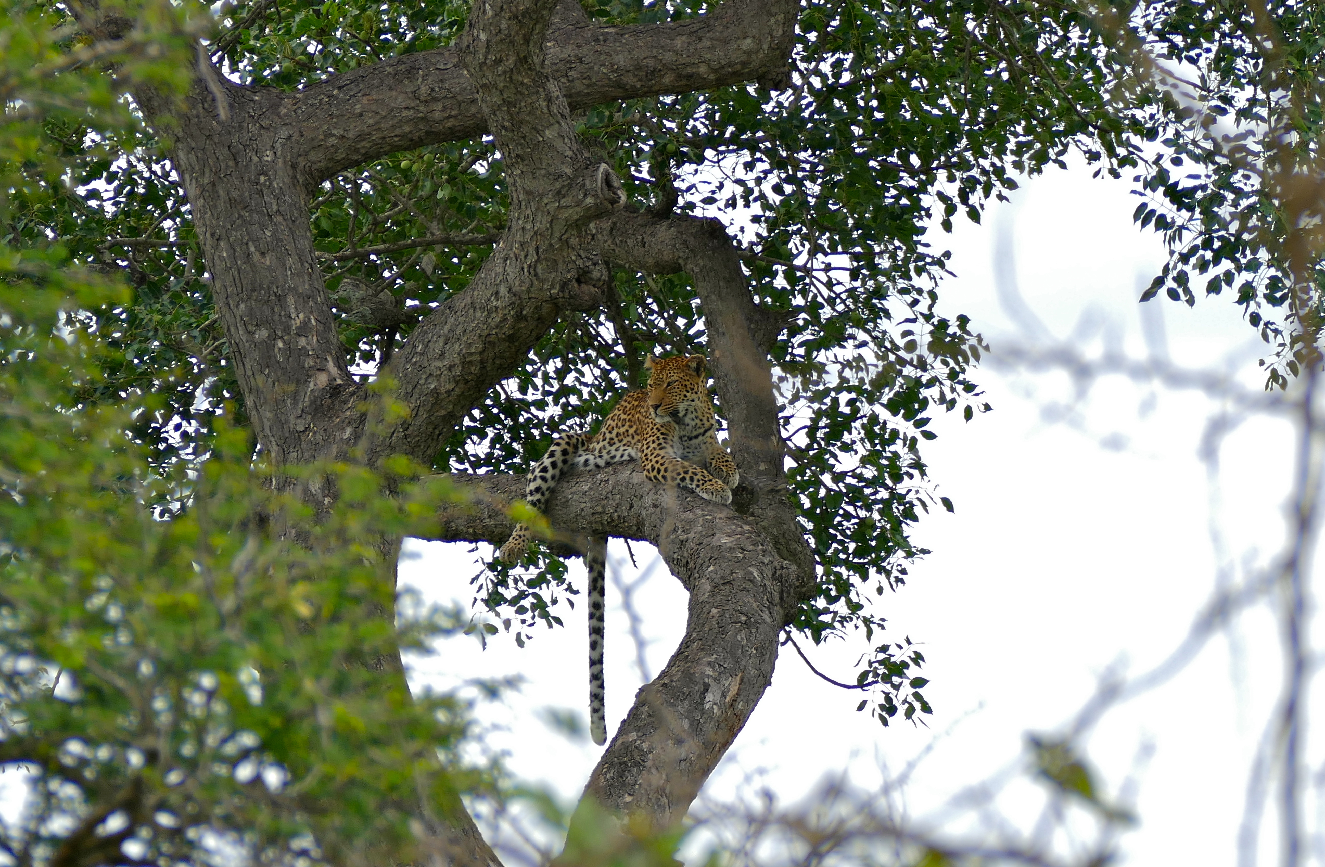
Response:
[[[224,416],[162,472],[132,430],[164,399],[89,403],[123,358],[68,327],[127,293],[33,257],[0,277],[0,770],[29,793],[0,858],[346,863],[490,789],[457,758],[468,705],[411,699],[395,663],[464,619],[383,579],[380,540],[452,493],[309,468],[341,492],[313,516]]]

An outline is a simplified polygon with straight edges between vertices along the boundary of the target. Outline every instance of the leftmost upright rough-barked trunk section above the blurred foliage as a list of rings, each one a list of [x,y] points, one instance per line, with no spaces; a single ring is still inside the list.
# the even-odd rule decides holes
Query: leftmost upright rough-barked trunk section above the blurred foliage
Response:
[[[292,97],[221,80],[227,119],[199,87],[187,111],[138,101],[174,142],[212,297],[257,441],[277,464],[342,457],[362,399],[313,249],[307,198],[280,123]],[[174,117],[176,123],[167,118]]]

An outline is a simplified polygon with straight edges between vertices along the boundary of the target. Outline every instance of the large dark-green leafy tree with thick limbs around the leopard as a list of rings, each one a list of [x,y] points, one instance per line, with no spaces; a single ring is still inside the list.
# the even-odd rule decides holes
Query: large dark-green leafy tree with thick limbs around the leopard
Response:
[[[1183,122],[1132,76],[1126,23],[1072,4],[256,0],[205,42],[172,24],[182,80],[139,74],[123,49],[199,11],[37,9],[70,16],[57,49],[90,50],[69,56],[77,80],[118,62],[103,74],[136,110],[42,114],[33,147],[52,162],[13,163],[8,243],[135,288],[60,321],[121,351],[73,391],[151,398],[123,424],[162,477],[216,452],[233,416],[270,485],[321,518],[262,518],[278,540],[347,532],[348,463],[388,491],[445,473],[465,505],[408,532],[501,542],[501,504],[558,422],[600,418],[645,351],[709,354],[742,475],[731,509],[631,467],[568,479],[550,505],[566,538],[653,542],[690,591],[686,639],[604,753],[572,840],[596,810],[674,827],[786,628],[882,628],[869,591],[905,582],[922,553],[908,528],[933,504],[926,412],[980,408],[979,341],[934,309],[931,211],[978,220],[1071,148],[1142,167],[1146,139]],[[205,489],[180,484],[201,509]],[[368,548],[390,563],[405,528],[372,528]],[[556,616],[563,586],[551,559],[480,595],[523,628]],[[390,622],[390,602],[368,610]],[[394,648],[346,652],[401,695]],[[922,662],[890,638],[861,672],[885,724],[929,711]],[[448,810],[427,835],[493,860]],[[398,843],[375,856],[417,856]]]

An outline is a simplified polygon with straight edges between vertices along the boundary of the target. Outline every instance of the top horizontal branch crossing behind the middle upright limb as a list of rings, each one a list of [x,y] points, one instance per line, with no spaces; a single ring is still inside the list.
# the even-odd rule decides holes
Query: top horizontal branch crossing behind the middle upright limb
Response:
[[[726,0],[668,24],[602,27],[554,21],[547,70],[572,110],[613,99],[712,90],[786,70],[798,4]],[[392,57],[294,97],[293,156],[307,187],[399,151],[488,130],[478,93],[454,48]]]

